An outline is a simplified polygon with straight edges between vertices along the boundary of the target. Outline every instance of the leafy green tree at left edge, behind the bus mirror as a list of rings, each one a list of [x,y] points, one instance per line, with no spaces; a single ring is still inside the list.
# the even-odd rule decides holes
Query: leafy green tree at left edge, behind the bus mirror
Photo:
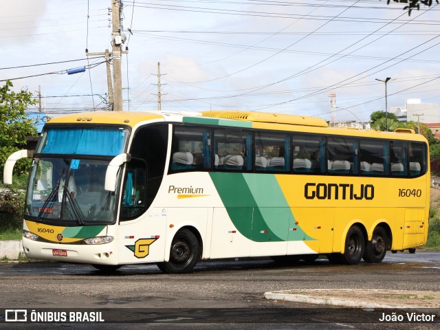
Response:
[[[12,83],[7,80],[0,87],[0,173],[3,173],[8,156],[26,144],[27,135],[36,135],[35,123],[27,118],[25,110],[32,100],[32,93],[21,89],[19,93],[10,90]],[[16,173],[28,170],[30,162],[17,162]]]

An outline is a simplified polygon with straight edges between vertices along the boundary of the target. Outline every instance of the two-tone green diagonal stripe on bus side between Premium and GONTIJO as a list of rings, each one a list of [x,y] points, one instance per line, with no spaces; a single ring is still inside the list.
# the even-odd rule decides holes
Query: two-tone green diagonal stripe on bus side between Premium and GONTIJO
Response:
[[[300,228],[289,230],[295,218],[274,175],[210,173],[210,177],[232,223],[246,238],[256,242],[313,240]]]

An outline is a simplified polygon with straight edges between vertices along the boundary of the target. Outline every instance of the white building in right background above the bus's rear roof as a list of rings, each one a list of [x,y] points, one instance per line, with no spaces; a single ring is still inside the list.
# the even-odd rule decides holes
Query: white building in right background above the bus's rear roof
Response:
[[[408,98],[405,105],[390,107],[399,122],[440,122],[439,104],[422,103],[420,98]]]

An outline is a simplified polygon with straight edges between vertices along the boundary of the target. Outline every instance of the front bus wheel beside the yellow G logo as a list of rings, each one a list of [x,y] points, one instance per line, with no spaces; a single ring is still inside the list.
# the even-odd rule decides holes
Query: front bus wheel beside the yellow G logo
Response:
[[[200,256],[200,245],[195,234],[181,229],[175,234],[170,248],[170,261],[157,263],[157,267],[168,274],[189,273]]]

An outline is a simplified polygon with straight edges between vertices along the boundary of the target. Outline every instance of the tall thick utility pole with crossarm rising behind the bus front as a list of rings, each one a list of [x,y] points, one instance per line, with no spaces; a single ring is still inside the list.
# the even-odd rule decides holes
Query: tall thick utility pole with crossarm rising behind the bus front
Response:
[[[122,51],[122,44],[125,42],[125,36],[121,35],[121,0],[111,0],[111,53],[105,50],[104,53],[89,53],[87,56],[105,56],[107,61],[107,87],[109,89],[109,108],[113,111],[122,111],[122,72],[121,72],[121,54],[127,54],[128,51]],[[110,8],[109,8],[110,10]],[[111,59],[110,59],[111,56]],[[113,87],[111,83],[110,61],[113,62]]]

